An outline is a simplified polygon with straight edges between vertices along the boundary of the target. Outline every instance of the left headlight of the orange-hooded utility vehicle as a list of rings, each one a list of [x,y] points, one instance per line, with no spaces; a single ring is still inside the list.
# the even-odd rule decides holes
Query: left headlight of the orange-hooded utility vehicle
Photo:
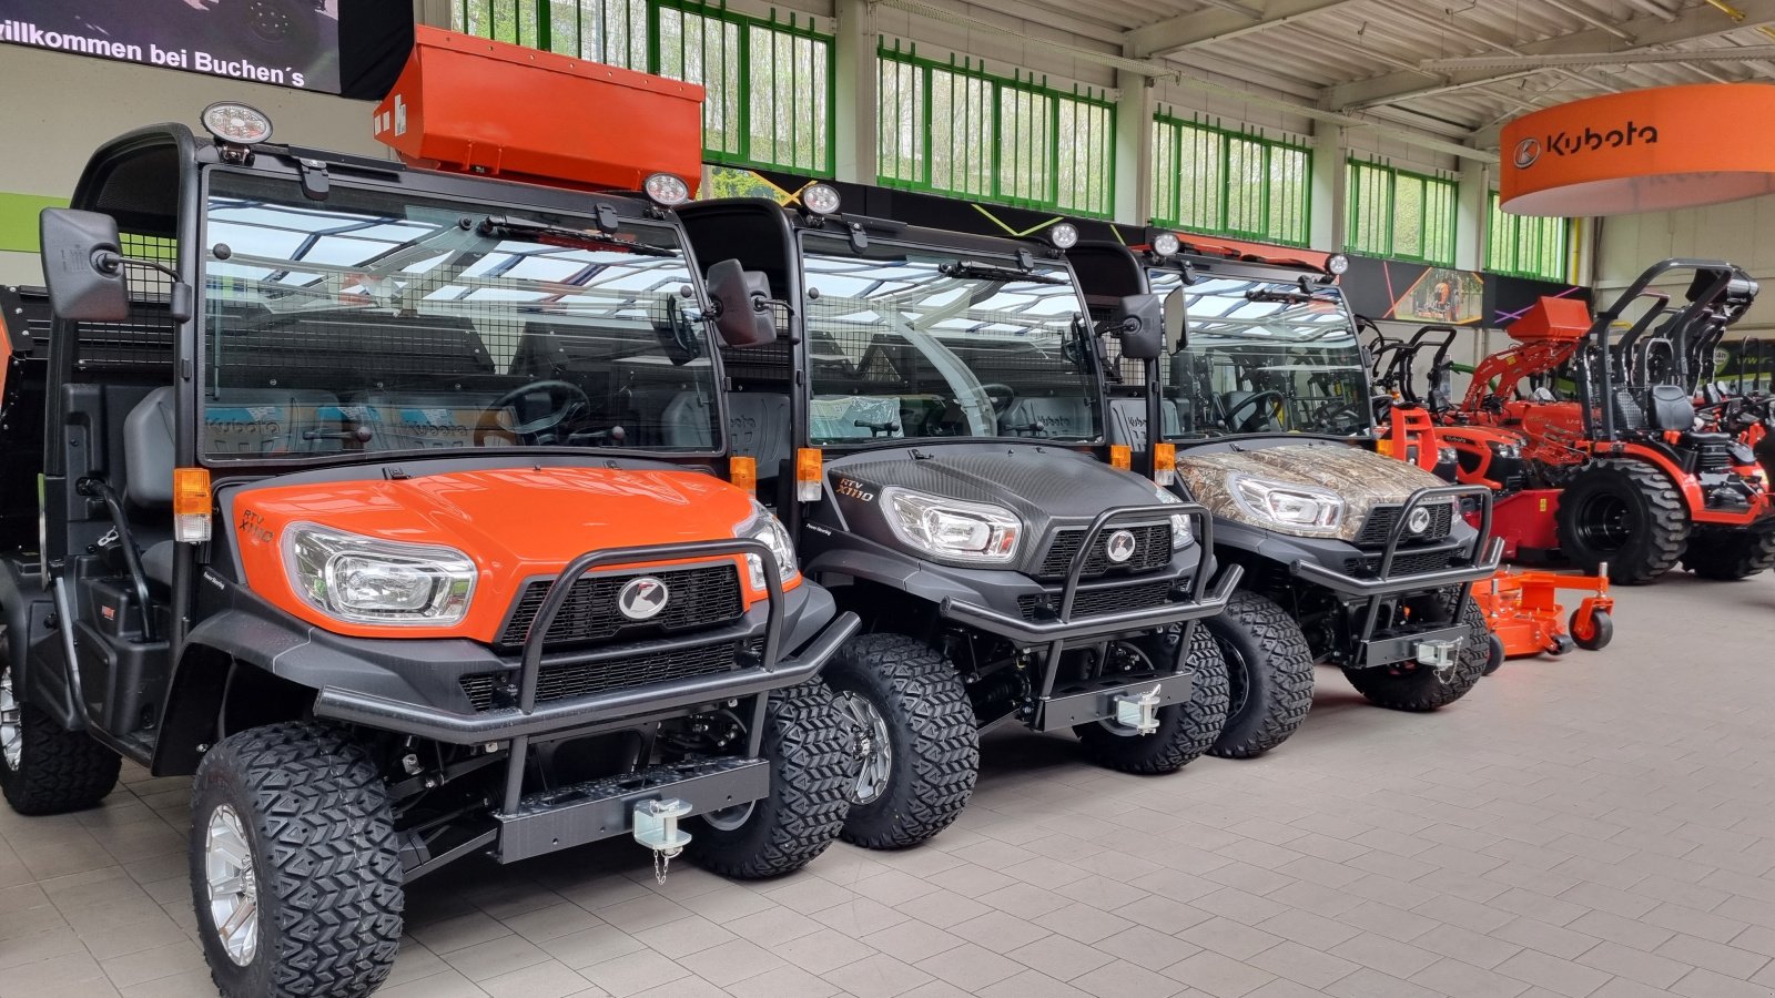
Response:
[[[295,524],[284,566],[296,595],[350,623],[444,627],[469,613],[476,568],[454,547],[399,543]]]

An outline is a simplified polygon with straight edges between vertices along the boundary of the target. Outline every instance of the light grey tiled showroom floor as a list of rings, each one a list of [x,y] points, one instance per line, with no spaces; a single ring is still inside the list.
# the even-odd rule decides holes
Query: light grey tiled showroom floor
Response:
[[[962,822],[733,884],[634,847],[414,886],[389,998],[1775,994],[1775,579],[1617,593],[1615,645],[1436,716],[1337,673],[1258,762],[987,742]],[[0,998],[213,994],[181,780],[0,815]]]

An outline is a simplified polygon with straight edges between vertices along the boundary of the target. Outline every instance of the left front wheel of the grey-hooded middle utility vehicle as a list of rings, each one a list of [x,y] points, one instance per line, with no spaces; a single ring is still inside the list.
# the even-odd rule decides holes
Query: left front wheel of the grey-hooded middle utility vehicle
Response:
[[[943,652],[903,634],[863,634],[820,675],[861,758],[845,842],[905,849],[960,817],[980,776],[980,728]]]

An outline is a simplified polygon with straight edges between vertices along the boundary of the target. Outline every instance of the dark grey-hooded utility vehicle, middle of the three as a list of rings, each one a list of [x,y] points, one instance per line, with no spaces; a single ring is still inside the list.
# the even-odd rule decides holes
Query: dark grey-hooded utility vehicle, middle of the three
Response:
[[[978,730],[1072,730],[1099,762],[1168,772],[1219,733],[1227,689],[1195,623],[1205,510],[1108,467],[1100,359],[1157,350],[1150,295],[1086,318],[1047,245],[783,210],[683,210],[701,256],[738,254],[779,300],[770,348],[728,362],[735,449],[795,533],[802,570],[863,618],[825,671],[859,730],[852,842],[941,831]]]

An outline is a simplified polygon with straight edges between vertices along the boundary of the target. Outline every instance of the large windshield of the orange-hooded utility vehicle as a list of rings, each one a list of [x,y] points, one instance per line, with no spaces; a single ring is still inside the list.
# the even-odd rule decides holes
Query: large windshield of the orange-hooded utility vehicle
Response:
[[[678,233],[213,172],[209,458],[719,446]]]

